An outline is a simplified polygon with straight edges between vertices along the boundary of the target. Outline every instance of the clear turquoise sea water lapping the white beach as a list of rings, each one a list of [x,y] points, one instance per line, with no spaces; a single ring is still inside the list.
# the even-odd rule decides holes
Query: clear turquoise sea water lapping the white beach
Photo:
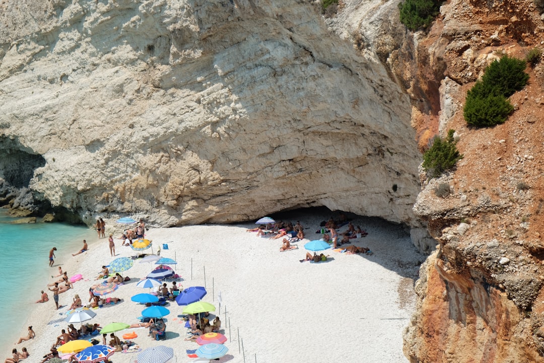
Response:
[[[81,248],[83,239],[94,241],[94,230],[61,223],[10,224],[0,210],[0,326],[19,334],[26,322],[26,311],[35,307],[40,290],[46,290],[52,274],[58,274],[66,255]],[[93,238],[94,237],[94,238]],[[49,267],[51,248],[57,247],[55,266]],[[51,299],[51,293],[50,299]],[[9,356],[19,335],[0,334],[0,352]]]

